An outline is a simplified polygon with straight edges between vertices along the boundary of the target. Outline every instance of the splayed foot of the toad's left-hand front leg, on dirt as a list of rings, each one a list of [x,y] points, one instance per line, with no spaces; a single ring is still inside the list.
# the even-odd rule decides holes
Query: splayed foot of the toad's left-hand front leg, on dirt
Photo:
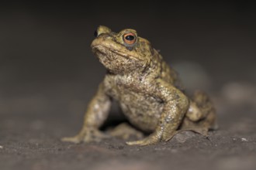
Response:
[[[61,141],[72,142],[78,144],[81,142],[89,143],[92,141],[102,141],[104,138],[109,138],[108,134],[102,133],[98,129],[88,129],[86,131],[81,131],[78,135],[74,137],[61,138]]]

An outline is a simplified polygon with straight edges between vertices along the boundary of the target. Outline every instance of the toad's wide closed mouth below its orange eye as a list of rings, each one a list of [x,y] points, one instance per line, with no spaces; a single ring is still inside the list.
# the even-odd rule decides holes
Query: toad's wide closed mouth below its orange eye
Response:
[[[92,53],[95,53],[95,55],[98,56],[98,57],[101,57],[101,56],[105,56],[105,57],[122,56],[126,59],[140,60],[140,59],[137,59],[136,57],[131,56],[127,53],[120,52],[119,50],[116,50],[116,49],[110,49],[110,48],[107,48],[107,47],[102,46],[102,45],[93,46],[92,47]]]

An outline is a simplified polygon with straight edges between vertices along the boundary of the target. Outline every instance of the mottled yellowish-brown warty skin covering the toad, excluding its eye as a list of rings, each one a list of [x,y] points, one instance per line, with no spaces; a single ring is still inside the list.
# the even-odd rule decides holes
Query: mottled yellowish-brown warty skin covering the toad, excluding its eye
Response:
[[[126,43],[124,35],[136,40]],[[179,131],[190,130],[207,135],[215,125],[215,110],[209,97],[200,91],[189,99],[178,86],[178,76],[147,39],[133,29],[116,33],[99,26],[92,52],[106,67],[105,79],[88,105],[83,128],[63,141],[101,141],[107,135],[99,131],[112,100],[117,100],[130,124],[150,133],[127,145],[152,145],[168,141]],[[125,132],[124,132],[125,133]]]

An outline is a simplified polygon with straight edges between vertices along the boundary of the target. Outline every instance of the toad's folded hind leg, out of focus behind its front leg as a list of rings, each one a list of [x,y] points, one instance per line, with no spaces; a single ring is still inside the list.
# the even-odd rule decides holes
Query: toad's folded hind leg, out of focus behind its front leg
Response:
[[[190,100],[189,110],[180,130],[195,131],[207,136],[210,129],[216,129],[216,110],[206,93],[196,91]]]

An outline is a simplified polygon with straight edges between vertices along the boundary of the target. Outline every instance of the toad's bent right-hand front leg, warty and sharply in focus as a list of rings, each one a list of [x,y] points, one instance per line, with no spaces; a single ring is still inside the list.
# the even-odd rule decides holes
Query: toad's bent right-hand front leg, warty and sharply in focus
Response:
[[[150,95],[159,97],[164,102],[157,128],[147,138],[126,142],[127,145],[152,145],[158,141],[168,141],[177,133],[178,126],[189,108],[189,99],[185,94],[163,80],[157,80],[156,86],[150,92]]]

